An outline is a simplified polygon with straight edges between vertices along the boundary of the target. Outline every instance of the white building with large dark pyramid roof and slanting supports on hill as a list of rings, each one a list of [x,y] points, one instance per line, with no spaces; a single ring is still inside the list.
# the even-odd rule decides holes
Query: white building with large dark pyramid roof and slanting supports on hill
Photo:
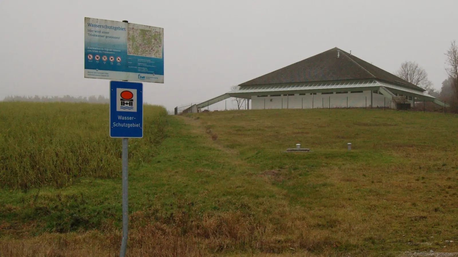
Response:
[[[332,48],[284,68],[246,81],[234,91],[197,104],[205,108],[229,97],[251,100],[251,109],[386,107],[415,102],[448,105],[375,65]]]

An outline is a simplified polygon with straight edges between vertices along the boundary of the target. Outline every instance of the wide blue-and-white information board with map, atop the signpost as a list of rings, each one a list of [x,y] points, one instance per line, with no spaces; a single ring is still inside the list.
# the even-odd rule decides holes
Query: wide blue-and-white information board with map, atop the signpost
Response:
[[[164,29],[85,17],[84,77],[164,83]]]

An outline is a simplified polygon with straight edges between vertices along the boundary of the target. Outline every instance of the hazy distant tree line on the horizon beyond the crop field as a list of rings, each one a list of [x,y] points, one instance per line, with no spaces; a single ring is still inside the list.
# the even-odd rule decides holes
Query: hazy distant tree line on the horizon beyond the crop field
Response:
[[[109,103],[105,96],[6,96],[4,102],[88,102]]]

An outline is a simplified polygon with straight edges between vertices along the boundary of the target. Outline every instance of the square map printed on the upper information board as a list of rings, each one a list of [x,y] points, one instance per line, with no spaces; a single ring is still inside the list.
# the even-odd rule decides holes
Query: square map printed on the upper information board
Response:
[[[127,54],[162,58],[162,29],[129,24],[127,32]]]

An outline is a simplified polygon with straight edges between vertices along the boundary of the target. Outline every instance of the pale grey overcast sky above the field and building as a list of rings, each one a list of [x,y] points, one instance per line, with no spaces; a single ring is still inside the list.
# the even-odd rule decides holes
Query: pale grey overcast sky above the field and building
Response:
[[[457,0],[0,0],[0,98],[108,96],[84,78],[84,17],[164,28],[164,84],[145,101],[203,102],[333,47],[394,72],[418,62],[436,89],[458,40]]]

